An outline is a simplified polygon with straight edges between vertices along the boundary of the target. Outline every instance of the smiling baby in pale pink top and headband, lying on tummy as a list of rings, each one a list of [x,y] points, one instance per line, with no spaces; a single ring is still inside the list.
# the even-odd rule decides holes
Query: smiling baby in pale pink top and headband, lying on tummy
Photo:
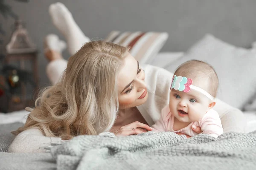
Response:
[[[218,76],[211,65],[190,60],[181,64],[172,79],[169,105],[152,126],[154,131],[172,131],[195,136],[192,126],[218,137],[223,133],[221,119],[212,108],[218,90]]]

